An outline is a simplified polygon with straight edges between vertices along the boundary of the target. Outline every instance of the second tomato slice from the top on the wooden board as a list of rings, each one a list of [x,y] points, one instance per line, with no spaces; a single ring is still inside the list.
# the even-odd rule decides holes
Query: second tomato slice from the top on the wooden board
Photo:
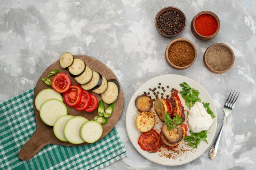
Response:
[[[71,107],[79,105],[82,100],[83,89],[79,85],[71,85],[67,92],[63,93],[64,102]]]

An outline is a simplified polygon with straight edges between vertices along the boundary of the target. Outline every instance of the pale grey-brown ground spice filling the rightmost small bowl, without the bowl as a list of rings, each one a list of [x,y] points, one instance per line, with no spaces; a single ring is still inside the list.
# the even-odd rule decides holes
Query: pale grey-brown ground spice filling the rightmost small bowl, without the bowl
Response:
[[[216,45],[209,49],[206,62],[210,69],[222,72],[232,64],[233,57],[229,49]]]

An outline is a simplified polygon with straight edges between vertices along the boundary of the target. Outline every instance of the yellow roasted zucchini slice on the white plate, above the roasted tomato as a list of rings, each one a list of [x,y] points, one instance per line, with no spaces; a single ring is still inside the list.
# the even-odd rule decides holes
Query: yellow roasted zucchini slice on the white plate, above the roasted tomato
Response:
[[[141,112],[137,115],[135,123],[139,131],[148,132],[155,125],[155,116],[150,112]]]

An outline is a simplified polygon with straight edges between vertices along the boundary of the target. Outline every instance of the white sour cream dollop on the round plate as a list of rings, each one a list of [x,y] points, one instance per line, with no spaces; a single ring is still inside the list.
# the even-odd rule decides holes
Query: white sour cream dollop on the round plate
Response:
[[[194,133],[208,130],[213,123],[211,115],[207,113],[201,102],[195,102],[193,107],[190,108],[187,120],[189,129]]]

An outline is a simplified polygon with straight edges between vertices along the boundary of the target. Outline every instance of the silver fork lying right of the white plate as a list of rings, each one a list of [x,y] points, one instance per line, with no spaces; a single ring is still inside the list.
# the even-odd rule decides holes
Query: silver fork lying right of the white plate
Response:
[[[214,159],[216,154],[217,154],[218,146],[219,146],[219,143],[220,143],[220,136],[222,134],[223,127],[225,125],[227,117],[232,113],[232,111],[233,111],[233,109],[234,109],[234,107],[236,105],[236,100],[237,100],[237,98],[238,98],[238,96],[240,94],[240,92],[238,93],[238,91],[236,91],[236,94],[238,93],[238,95],[236,95],[236,94],[234,95],[235,90],[233,91],[233,93],[232,93],[232,90],[229,93],[229,96],[227,97],[227,100],[226,100],[225,105],[223,107],[223,111],[225,113],[225,117],[224,117],[222,126],[220,128],[220,131],[219,131],[219,133],[217,135],[217,138],[216,138],[215,142],[213,143],[213,146],[211,146],[211,150],[210,150],[210,153],[209,153],[209,158],[210,159]],[[231,94],[231,97],[230,97],[230,94]],[[233,95],[234,95],[234,97],[233,97]]]

